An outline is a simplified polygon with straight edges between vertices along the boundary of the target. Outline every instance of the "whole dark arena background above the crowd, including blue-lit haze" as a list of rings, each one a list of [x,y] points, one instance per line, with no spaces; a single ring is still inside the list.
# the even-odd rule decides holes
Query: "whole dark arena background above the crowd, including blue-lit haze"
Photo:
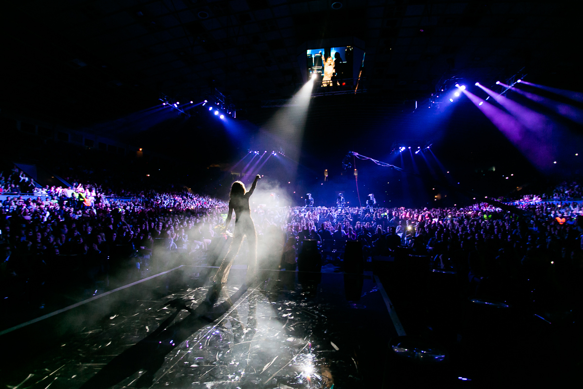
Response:
[[[333,201],[337,191],[345,191],[351,204],[358,201],[353,172],[341,165],[349,150],[401,167],[394,152],[399,146],[431,145],[451,171],[450,177],[431,174],[421,155],[414,160],[422,177],[356,160],[361,200],[374,192],[377,201],[391,205],[472,201],[446,183],[498,196],[580,173],[574,153],[582,150],[581,125],[520,96],[507,94],[548,114],[559,128],[549,139],[558,163],[548,169],[535,169],[466,97],[427,108],[441,86],[463,83],[485,99],[475,82],[501,92],[496,80],[515,75],[582,90],[579,5],[372,0],[342,5],[335,10],[325,0],[5,3],[1,115],[95,131],[170,155],[177,161],[174,170],[184,171],[177,175],[185,185],[220,196],[233,178],[230,167],[259,147],[300,149],[297,175],[293,163],[276,158],[261,173],[293,181],[297,202],[310,191],[317,204]],[[301,142],[278,138],[278,129],[268,125],[278,108],[262,108],[265,101],[285,101],[301,87],[304,44],[319,47],[319,40],[339,37],[364,41],[367,92],[311,99]],[[190,117],[152,109],[160,93],[184,104],[199,103],[216,90],[237,107],[237,119],[227,125],[206,107],[188,107]],[[4,125],[0,131],[12,130]],[[414,170],[408,153],[403,152],[402,167]],[[488,170],[493,166],[496,170]],[[432,169],[439,173],[436,165]],[[509,174],[514,176],[505,180]]]

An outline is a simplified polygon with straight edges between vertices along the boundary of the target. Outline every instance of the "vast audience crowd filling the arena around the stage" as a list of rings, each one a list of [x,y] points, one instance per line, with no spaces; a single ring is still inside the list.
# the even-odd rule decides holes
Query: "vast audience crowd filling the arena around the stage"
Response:
[[[27,183],[18,169],[1,177],[4,186]],[[94,293],[107,288],[116,272],[138,277],[153,262],[165,267],[171,254],[192,263],[228,239],[219,228],[228,209],[220,199],[154,190],[116,198],[87,182],[73,177],[71,187],[2,201],[4,296],[43,296],[37,292],[71,277]],[[579,191],[576,184],[561,185],[557,194]],[[507,290],[525,277],[538,280],[541,289],[575,292],[583,281],[581,202],[524,201],[517,208],[526,216],[482,203],[436,209],[258,206],[252,217],[260,262],[270,257],[285,269],[296,268],[304,240],[318,241],[333,262],[342,258],[346,241],[360,241],[369,260],[406,250],[428,258],[433,269],[463,275],[472,293]]]

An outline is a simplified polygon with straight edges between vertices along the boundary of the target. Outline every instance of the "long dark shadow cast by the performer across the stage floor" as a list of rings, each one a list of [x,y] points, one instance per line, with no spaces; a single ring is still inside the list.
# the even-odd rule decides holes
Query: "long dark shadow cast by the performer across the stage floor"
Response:
[[[164,320],[152,334],[116,356],[81,388],[106,389],[139,370],[145,370],[145,372],[136,380],[136,387],[152,386],[154,374],[162,367],[166,355],[194,332],[223,316],[246,291],[247,288],[243,287],[233,296],[227,297],[221,304],[212,306],[212,304],[202,303],[196,309],[186,306],[189,300],[172,300],[166,304],[176,309],[170,317]],[[172,324],[182,309],[190,314],[178,323]]]

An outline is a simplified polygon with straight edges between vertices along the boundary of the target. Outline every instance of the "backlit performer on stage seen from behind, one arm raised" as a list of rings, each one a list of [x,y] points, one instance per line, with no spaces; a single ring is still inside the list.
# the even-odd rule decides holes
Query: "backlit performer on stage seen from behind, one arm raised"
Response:
[[[251,185],[249,191],[245,190],[245,184],[241,181],[235,181],[231,186],[231,194],[229,199],[229,213],[227,214],[227,220],[225,220],[224,229],[227,229],[233,218],[233,211],[235,211],[235,230],[233,232],[233,241],[231,241],[231,246],[229,251],[223,258],[220,264],[219,271],[211,279],[215,283],[216,288],[222,288],[222,286],[227,282],[229,278],[229,271],[233,261],[239,251],[243,237],[247,236],[247,241],[249,243],[249,265],[247,268],[247,285],[250,285],[255,279],[255,267],[257,266],[257,233],[255,232],[255,225],[251,219],[251,209],[249,207],[249,198],[255,191],[257,187],[257,181],[261,176],[257,174],[255,176],[255,181]]]

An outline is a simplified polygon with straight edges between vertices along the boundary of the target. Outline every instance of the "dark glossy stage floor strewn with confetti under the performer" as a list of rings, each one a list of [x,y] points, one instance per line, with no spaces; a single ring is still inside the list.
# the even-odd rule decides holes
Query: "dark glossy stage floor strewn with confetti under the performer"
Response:
[[[103,314],[58,342],[41,349],[25,339],[29,356],[1,369],[2,381],[19,389],[381,386],[396,333],[371,274],[265,271],[265,282],[242,290],[245,270],[232,269],[213,311],[202,313],[209,268],[180,271],[178,285],[174,277],[169,286],[171,272],[124,290],[122,303],[94,300]],[[175,299],[191,311],[166,306]]]

